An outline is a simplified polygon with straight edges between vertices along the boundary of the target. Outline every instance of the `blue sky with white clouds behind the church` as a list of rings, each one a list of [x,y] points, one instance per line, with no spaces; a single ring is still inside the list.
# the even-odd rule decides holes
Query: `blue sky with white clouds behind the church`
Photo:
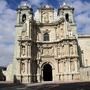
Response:
[[[0,0],[0,66],[7,66],[13,61],[16,9],[23,0]],[[49,4],[55,9],[64,0],[28,0],[34,11],[41,4]],[[78,34],[90,35],[90,0],[66,0],[75,8],[75,20]]]

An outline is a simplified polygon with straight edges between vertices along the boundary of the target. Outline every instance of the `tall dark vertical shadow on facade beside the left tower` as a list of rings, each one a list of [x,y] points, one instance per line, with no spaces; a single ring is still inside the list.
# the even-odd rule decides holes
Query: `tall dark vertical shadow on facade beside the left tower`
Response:
[[[31,71],[31,82],[38,82],[37,79],[37,71],[39,68],[39,61],[40,58],[38,57],[38,52],[39,48],[37,46],[37,35],[38,33],[40,33],[40,29],[38,28],[36,22],[33,22],[33,29],[32,29],[32,34],[31,34],[31,38],[32,38],[32,44],[31,44],[31,62],[30,62],[30,71]],[[40,45],[40,44],[39,44]],[[37,60],[38,57],[38,60]],[[41,78],[41,77],[40,77]]]

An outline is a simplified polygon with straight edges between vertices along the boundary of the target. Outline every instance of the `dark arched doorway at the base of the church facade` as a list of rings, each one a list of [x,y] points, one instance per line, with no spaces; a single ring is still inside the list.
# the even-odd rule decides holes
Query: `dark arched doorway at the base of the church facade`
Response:
[[[43,67],[43,80],[52,81],[52,66],[50,64],[45,64]]]

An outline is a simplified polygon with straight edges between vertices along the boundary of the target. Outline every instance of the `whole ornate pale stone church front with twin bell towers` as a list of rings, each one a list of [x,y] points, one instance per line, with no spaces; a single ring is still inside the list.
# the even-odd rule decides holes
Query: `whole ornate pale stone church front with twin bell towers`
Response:
[[[31,7],[22,5],[17,9],[15,27],[12,80],[21,83],[85,80],[89,68],[82,48],[86,50],[83,41],[90,42],[90,37],[78,36],[74,8],[64,4],[55,13],[54,8],[45,5],[34,14]]]

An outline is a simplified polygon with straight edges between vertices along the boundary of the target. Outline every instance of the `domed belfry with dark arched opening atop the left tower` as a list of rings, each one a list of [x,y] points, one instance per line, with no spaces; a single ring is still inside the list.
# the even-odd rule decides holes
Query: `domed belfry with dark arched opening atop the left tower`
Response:
[[[33,17],[33,10],[31,6],[27,5],[26,1],[23,1],[17,8],[17,24],[23,24],[30,16]]]

